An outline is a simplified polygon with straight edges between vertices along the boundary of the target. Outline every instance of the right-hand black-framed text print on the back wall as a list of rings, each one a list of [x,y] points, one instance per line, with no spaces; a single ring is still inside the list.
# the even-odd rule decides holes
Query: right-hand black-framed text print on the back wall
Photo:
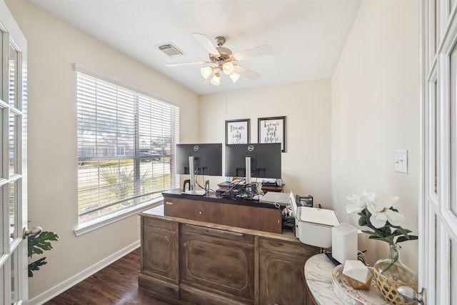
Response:
[[[286,152],[286,116],[258,118],[258,143],[281,143]]]

